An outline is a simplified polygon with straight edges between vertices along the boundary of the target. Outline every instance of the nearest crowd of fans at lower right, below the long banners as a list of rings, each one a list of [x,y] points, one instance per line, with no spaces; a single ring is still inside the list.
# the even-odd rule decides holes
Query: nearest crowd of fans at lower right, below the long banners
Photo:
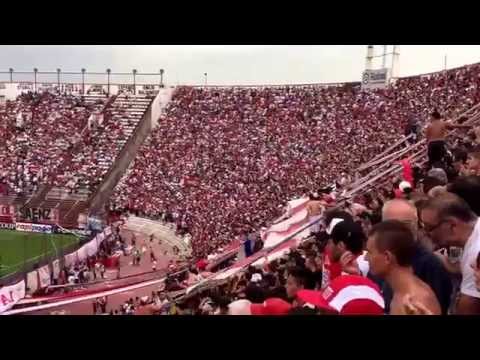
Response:
[[[403,162],[403,186],[327,210],[297,247],[172,301],[170,314],[480,314],[480,147],[463,132],[449,150],[412,177]]]

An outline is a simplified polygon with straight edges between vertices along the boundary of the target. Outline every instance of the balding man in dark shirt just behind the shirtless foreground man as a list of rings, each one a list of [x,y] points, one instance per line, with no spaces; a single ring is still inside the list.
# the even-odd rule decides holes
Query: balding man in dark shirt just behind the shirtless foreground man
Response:
[[[382,208],[382,220],[398,220],[406,224],[412,231],[415,248],[412,259],[412,268],[416,276],[429,285],[435,293],[446,314],[450,306],[452,294],[452,281],[448,271],[439,259],[428,251],[418,239],[418,214],[416,207],[407,200],[394,199],[386,202]],[[390,309],[393,293],[385,281],[379,282],[387,311]]]

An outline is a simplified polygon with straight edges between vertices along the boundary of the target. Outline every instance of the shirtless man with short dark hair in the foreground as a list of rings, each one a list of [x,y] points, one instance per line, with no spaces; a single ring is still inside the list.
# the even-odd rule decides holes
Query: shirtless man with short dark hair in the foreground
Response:
[[[426,313],[440,315],[440,304],[432,289],[413,273],[414,251],[415,240],[407,225],[388,220],[370,231],[366,260],[372,274],[384,279],[392,288],[391,315],[411,314],[412,303]]]

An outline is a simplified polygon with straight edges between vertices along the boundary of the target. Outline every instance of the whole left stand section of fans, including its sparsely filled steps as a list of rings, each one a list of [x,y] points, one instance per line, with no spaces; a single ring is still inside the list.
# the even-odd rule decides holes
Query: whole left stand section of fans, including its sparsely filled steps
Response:
[[[0,194],[29,194],[40,184],[94,190],[150,101],[45,91],[0,105]]]

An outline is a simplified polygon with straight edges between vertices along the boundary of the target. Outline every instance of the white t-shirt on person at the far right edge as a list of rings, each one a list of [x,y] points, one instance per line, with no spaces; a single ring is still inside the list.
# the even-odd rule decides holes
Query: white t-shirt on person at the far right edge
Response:
[[[475,277],[473,274],[472,264],[477,261],[478,253],[480,252],[480,219],[477,220],[472,234],[468,238],[465,247],[463,248],[463,255],[460,261],[462,267],[462,284],[460,285],[460,292],[475,298],[480,298],[480,291],[475,286]]]

